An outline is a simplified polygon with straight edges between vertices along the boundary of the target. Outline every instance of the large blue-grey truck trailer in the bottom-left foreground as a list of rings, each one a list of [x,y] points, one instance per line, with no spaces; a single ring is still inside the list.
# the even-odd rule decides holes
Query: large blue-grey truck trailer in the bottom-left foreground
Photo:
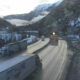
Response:
[[[21,54],[0,62],[0,80],[23,80],[42,68],[38,55]]]

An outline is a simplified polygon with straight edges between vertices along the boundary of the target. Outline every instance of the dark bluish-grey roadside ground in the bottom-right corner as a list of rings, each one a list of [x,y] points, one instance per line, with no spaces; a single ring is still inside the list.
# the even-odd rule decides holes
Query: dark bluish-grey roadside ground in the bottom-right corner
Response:
[[[80,41],[69,45],[73,54],[70,56],[71,63],[65,80],[80,80]]]

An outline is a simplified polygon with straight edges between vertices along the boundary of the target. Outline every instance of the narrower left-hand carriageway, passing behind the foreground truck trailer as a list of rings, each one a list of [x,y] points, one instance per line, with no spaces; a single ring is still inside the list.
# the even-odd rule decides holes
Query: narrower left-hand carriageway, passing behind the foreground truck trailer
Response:
[[[15,53],[13,54],[12,56],[6,56],[6,57],[0,57],[0,65],[7,61],[7,60],[10,60],[14,57],[17,57],[17,56],[21,56],[21,55],[27,55],[28,53],[33,53],[34,51],[40,49],[41,47],[43,47],[44,45],[46,45],[47,43],[49,42],[49,39],[46,38],[45,41],[42,41],[42,40],[39,40],[38,42],[36,43],[33,43],[31,45],[28,46],[28,49],[24,52],[21,52],[21,53]]]

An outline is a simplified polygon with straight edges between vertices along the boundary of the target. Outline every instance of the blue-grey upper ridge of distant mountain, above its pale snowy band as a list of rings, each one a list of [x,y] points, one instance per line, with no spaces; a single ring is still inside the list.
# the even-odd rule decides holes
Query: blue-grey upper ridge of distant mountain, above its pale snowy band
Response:
[[[35,8],[35,10],[31,11],[28,14],[17,14],[17,15],[9,15],[5,16],[4,19],[22,19],[22,20],[32,20],[34,17],[37,17],[41,14],[41,12],[48,9],[52,4],[41,4]]]

